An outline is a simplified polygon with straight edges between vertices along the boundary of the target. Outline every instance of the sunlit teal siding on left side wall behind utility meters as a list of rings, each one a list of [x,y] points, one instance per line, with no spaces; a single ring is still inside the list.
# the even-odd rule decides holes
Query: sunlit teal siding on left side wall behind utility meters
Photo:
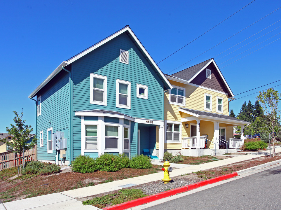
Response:
[[[43,90],[41,95],[41,115],[37,116],[37,136],[43,131],[43,147],[40,147],[40,137],[37,142],[38,160],[55,160],[56,151],[47,153],[47,129],[64,132],[64,138],[69,139],[69,74],[61,71]],[[50,123],[49,123],[50,122]],[[66,160],[69,160],[69,147],[66,150]]]

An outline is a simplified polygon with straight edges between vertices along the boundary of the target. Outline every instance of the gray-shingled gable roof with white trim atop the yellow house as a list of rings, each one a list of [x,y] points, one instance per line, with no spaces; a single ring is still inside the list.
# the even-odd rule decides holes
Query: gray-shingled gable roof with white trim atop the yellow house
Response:
[[[177,73],[166,75],[166,77],[170,77],[169,79],[175,79],[178,82],[184,82],[186,84],[190,83],[198,74],[200,74],[207,66],[209,66],[211,63],[214,64],[215,68],[217,69],[219,76],[221,77],[221,80],[228,91],[228,95],[230,97],[234,97],[230,87],[228,86],[224,76],[221,74],[221,71],[219,70],[219,67],[217,66],[216,62],[214,61],[214,58],[211,58],[209,60],[206,60],[200,64],[196,64],[192,67],[189,67],[187,69],[184,69],[182,71],[179,71]]]

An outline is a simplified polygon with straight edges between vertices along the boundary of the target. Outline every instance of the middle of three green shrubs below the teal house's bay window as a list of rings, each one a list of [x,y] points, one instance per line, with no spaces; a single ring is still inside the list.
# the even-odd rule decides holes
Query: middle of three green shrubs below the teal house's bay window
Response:
[[[99,171],[109,172],[118,171],[124,165],[124,163],[121,163],[121,157],[110,153],[101,154],[100,157],[96,159],[96,164]]]

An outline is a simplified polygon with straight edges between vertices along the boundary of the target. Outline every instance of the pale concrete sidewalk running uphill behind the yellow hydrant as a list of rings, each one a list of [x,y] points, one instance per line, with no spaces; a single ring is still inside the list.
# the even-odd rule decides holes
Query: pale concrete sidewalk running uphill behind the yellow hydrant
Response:
[[[276,153],[281,152],[281,148],[275,148]],[[247,155],[239,155],[237,157],[231,157],[224,160],[217,160],[214,162],[208,162],[200,165],[184,165],[184,164],[172,164],[171,167],[177,168],[170,173],[170,177],[180,176],[182,174],[189,174],[196,171],[208,170],[240,161],[250,160],[256,157],[262,157],[268,155],[269,152],[249,152]],[[154,163],[155,164],[155,163]],[[158,163],[161,164],[161,163]],[[163,164],[163,163],[162,163]],[[138,176],[134,178],[128,178],[109,183],[103,183],[95,186],[78,188],[75,190],[68,190],[64,192],[57,192],[49,195],[42,195],[38,197],[32,197],[27,199],[21,199],[17,201],[11,201],[0,204],[0,210],[25,210],[25,209],[98,209],[97,207],[86,205],[84,206],[77,198],[88,197],[97,195],[104,192],[110,192],[114,190],[120,190],[122,188],[131,187],[134,185],[144,184],[151,181],[161,180],[163,178],[163,172],[156,174],[149,174],[144,176]]]

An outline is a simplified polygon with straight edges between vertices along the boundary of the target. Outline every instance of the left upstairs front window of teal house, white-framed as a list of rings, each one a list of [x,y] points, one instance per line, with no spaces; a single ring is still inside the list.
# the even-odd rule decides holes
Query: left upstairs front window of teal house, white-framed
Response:
[[[90,74],[90,104],[107,105],[107,77]]]

